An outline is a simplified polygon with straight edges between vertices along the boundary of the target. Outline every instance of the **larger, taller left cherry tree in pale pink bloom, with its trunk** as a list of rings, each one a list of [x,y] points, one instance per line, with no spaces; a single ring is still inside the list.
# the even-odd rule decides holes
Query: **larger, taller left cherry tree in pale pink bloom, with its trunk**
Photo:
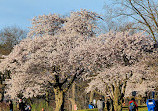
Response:
[[[11,71],[6,95],[16,98],[22,93],[28,98],[53,88],[55,111],[63,111],[65,92],[84,74],[84,67],[73,66],[70,61],[71,52],[95,35],[97,18],[96,13],[81,10],[72,12],[66,19],[55,14],[33,19],[29,37],[0,63],[1,71]]]

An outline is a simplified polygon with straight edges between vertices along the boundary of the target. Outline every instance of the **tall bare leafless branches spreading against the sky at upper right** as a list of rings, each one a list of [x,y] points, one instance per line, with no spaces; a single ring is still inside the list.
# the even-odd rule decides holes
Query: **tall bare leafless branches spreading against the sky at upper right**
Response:
[[[131,29],[146,31],[157,42],[158,2],[156,0],[113,0],[113,5],[109,9],[112,15],[110,16],[115,18],[114,21],[119,19],[133,22],[135,25]]]

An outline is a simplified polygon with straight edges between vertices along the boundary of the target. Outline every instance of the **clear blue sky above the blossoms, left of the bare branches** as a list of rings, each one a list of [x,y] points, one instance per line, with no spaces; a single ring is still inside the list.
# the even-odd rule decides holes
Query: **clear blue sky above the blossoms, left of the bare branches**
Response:
[[[104,12],[105,0],[0,0],[0,29],[7,26],[27,28],[34,16],[88,9]]]

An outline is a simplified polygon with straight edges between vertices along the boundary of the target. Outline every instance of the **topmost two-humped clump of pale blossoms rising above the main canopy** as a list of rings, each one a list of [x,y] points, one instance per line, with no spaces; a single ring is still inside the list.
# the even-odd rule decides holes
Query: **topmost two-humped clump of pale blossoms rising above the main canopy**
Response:
[[[28,36],[55,35],[61,32],[94,36],[97,19],[101,19],[100,15],[84,9],[71,12],[70,17],[57,14],[42,15],[32,19],[32,27],[30,27]]]

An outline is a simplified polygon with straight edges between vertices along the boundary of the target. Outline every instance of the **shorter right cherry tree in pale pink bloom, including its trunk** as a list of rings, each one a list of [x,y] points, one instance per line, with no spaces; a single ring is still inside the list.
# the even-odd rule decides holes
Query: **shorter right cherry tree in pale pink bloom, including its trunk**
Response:
[[[87,91],[98,89],[110,95],[115,111],[122,109],[124,95],[131,94],[133,90],[145,93],[155,87],[156,81],[152,81],[152,78],[157,74],[152,73],[152,68],[146,62],[151,55],[156,57],[157,51],[154,42],[142,33],[108,33],[86,42],[73,52],[72,60],[92,73],[92,77],[87,78],[92,80]]]

